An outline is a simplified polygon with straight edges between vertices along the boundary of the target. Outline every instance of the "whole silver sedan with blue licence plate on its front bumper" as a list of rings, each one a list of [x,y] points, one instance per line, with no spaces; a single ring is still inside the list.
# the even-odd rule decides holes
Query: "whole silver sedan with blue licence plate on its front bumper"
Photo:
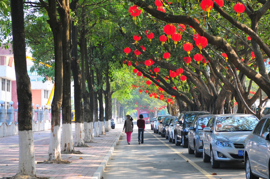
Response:
[[[251,114],[213,115],[203,129],[203,161],[213,169],[220,162],[244,161],[245,139],[258,121]]]

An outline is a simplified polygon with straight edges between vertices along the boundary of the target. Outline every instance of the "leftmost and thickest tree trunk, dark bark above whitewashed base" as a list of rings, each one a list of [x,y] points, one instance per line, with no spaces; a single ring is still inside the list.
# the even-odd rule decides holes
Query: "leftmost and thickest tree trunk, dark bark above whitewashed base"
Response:
[[[19,170],[18,175],[35,177],[35,155],[32,131],[32,93],[27,74],[23,1],[11,0],[13,54],[18,99]]]

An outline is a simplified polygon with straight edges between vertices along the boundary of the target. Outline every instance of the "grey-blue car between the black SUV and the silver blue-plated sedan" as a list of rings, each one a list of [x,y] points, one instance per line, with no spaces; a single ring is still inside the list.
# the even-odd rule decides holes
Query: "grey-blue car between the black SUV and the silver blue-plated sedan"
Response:
[[[212,114],[196,116],[189,127],[187,134],[188,138],[188,153],[194,154],[195,157],[201,157],[203,152],[202,135],[203,128],[206,127]]]

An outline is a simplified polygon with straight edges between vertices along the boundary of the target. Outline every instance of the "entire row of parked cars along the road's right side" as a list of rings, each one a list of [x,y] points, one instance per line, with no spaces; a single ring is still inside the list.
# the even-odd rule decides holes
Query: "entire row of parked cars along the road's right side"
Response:
[[[270,114],[259,121],[250,114],[184,111],[156,116],[150,124],[154,133],[182,144],[212,168],[219,168],[220,162],[245,161],[247,179],[270,178]]]

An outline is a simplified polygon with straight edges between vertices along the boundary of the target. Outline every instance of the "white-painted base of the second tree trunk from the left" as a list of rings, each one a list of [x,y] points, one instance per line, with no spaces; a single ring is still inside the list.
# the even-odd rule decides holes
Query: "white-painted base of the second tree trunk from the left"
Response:
[[[51,128],[48,161],[62,160],[61,159],[60,143],[61,143],[60,126],[58,126],[58,125],[53,126]]]

